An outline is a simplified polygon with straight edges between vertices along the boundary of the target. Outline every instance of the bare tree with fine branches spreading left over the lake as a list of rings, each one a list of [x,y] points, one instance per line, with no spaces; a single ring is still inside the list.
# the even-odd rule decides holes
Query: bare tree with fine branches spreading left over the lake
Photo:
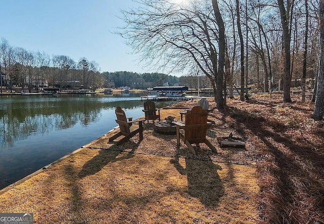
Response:
[[[217,108],[224,108],[225,34],[217,1],[142,0],[138,10],[121,12],[126,26],[119,34],[142,61],[170,71],[197,65],[212,82]]]

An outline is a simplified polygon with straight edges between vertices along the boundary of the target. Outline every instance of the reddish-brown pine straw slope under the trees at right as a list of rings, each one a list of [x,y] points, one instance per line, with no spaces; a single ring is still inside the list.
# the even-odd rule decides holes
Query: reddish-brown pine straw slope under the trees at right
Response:
[[[227,110],[214,116],[260,155],[262,222],[323,223],[324,122],[311,118],[313,104],[292,98],[293,103],[275,95],[229,101]]]

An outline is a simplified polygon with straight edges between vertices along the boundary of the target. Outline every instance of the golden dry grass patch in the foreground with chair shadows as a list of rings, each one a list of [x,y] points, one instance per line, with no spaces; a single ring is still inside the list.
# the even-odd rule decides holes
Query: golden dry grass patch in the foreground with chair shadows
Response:
[[[250,166],[86,148],[1,195],[0,210],[35,223],[255,223],[258,190]]]

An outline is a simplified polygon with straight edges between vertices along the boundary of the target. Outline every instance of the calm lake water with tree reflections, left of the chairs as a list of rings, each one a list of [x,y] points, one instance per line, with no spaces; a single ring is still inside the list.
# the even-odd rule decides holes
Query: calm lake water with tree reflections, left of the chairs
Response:
[[[0,189],[117,126],[117,106],[127,117],[144,116],[144,102],[136,93],[0,96],[0,100]],[[172,103],[156,102],[156,107]]]

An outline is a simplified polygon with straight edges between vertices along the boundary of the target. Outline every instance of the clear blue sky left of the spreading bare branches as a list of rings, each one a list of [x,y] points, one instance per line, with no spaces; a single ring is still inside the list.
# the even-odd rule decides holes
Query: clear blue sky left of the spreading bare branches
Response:
[[[0,36],[13,47],[86,57],[103,71],[147,71],[130,55],[123,38],[112,32],[123,25],[119,9],[134,8],[132,0],[11,0],[0,4]]]

